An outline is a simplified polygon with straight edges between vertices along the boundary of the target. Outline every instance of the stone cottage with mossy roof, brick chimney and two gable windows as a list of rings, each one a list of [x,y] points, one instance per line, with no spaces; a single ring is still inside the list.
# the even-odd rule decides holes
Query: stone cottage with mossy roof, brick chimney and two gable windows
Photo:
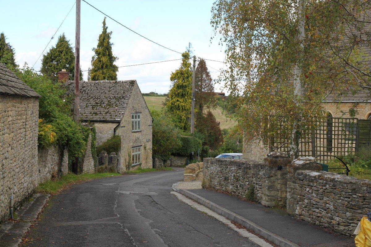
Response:
[[[74,94],[74,81],[67,81]],[[95,125],[96,144],[121,136],[117,170],[152,168],[152,116],[136,80],[80,81],[80,120]]]

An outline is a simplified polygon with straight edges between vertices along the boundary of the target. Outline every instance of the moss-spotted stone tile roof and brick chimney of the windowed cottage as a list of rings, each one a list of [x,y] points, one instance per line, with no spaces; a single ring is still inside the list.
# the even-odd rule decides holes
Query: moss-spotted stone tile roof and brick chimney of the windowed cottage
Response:
[[[136,80],[80,81],[80,119],[120,122]],[[74,95],[74,81],[67,81],[67,95]]]

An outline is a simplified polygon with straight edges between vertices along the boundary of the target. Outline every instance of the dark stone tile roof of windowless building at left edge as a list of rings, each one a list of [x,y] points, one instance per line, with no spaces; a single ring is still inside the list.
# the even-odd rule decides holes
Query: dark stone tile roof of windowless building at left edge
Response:
[[[2,63],[0,63],[0,94],[41,97]]]

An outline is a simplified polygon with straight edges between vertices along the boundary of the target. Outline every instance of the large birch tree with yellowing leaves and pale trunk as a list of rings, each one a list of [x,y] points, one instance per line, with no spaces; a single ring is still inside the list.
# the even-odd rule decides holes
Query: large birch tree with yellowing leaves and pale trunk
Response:
[[[355,0],[214,3],[212,41],[225,48],[227,66],[219,80],[236,99],[245,141],[269,146],[271,137],[283,133],[290,156],[297,158],[301,133],[315,128],[316,118],[324,116],[322,100],[359,85],[351,73],[355,69],[345,61],[355,67],[360,61],[357,46],[347,36],[347,20],[357,24],[362,8],[368,8],[360,5]],[[351,13],[345,10],[349,8]],[[336,47],[347,49],[336,54]]]

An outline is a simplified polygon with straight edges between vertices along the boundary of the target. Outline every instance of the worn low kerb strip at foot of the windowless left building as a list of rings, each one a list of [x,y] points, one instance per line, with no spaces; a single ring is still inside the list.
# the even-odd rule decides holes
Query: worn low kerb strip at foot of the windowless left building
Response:
[[[24,204],[17,212],[19,221],[16,223],[6,221],[1,225],[0,247],[18,246],[22,241],[23,234],[29,230],[32,221],[36,220],[37,214],[40,213],[49,197],[49,194],[35,194],[32,197],[33,201]]]

